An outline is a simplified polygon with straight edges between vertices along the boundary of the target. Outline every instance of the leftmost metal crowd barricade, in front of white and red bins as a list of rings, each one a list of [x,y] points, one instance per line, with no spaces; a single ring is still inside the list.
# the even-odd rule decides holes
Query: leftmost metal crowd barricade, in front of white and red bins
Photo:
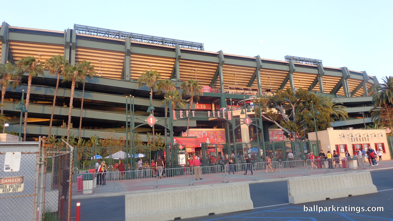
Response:
[[[117,179],[113,172],[78,173],[75,194],[101,193],[109,189],[113,189],[113,192],[115,192],[117,185],[116,181]]]

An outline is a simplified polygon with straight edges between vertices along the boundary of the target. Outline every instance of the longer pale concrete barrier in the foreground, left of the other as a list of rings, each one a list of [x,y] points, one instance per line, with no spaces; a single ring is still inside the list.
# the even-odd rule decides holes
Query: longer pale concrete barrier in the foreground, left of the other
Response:
[[[126,221],[167,221],[252,209],[248,184],[200,186],[125,196]]]

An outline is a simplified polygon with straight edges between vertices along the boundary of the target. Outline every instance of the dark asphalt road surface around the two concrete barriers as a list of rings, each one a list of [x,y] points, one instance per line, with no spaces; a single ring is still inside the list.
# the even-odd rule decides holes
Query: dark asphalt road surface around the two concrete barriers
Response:
[[[254,210],[229,214],[209,215],[184,219],[187,221],[393,221],[393,169],[370,171],[378,193],[344,197],[305,204],[288,204],[286,181],[261,182],[250,184],[250,194]],[[143,199],[141,199],[143,200]],[[125,197],[99,197],[72,201],[72,217],[75,217],[76,202],[81,202],[81,220],[83,221],[125,221]],[[304,207],[367,207],[383,206],[383,212],[304,212]],[[355,208],[356,209],[356,208]],[[74,219],[75,220],[75,219]]]

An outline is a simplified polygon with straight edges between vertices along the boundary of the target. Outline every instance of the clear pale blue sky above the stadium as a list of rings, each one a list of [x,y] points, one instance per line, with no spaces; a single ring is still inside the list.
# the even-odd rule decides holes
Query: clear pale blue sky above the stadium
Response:
[[[0,20],[56,31],[81,24],[264,59],[320,59],[380,83],[393,75],[393,0],[19,0],[0,9]]]

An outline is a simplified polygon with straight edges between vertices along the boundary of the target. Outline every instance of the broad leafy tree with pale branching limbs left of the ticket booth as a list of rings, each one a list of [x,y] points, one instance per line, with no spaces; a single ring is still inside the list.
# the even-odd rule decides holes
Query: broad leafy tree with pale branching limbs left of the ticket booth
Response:
[[[303,139],[307,133],[314,131],[314,118],[312,103],[318,104],[319,98],[307,90],[299,89],[294,92],[290,88],[279,90],[273,96],[261,96],[254,99],[254,107],[259,117],[258,103],[261,104],[262,118],[274,123],[284,131],[285,136],[294,139]],[[330,114],[320,105],[314,105],[314,110],[320,114],[315,115],[317,130],[330,127]]]

